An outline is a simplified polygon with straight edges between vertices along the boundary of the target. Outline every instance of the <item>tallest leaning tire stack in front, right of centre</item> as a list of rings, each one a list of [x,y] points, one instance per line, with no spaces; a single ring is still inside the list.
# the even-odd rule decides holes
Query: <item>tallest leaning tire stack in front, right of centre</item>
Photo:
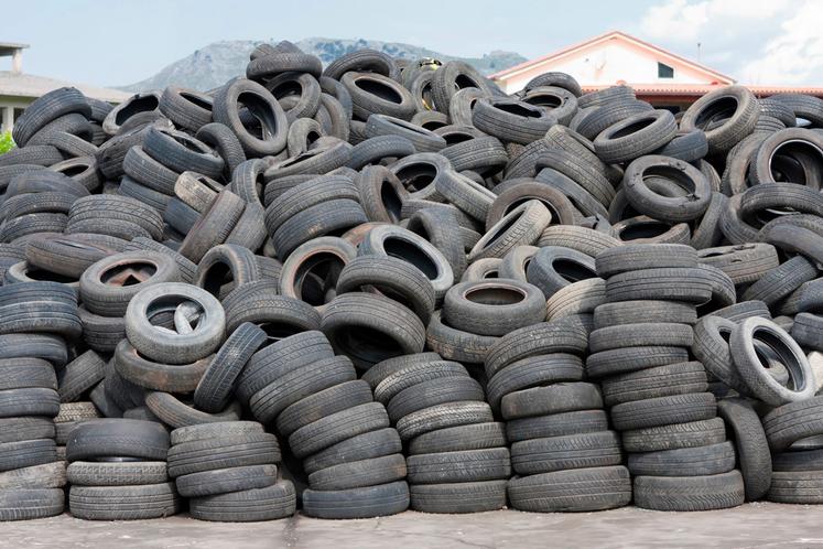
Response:
[[[707,391],[703,365],[689,362],[697,305],[713,278],[693,248],[629,245],[596,258],[607,303],[595,309],[586,370],[603,386],[622,434],[635,504],[661,510],[726,508],[744,502],[735,449]]]

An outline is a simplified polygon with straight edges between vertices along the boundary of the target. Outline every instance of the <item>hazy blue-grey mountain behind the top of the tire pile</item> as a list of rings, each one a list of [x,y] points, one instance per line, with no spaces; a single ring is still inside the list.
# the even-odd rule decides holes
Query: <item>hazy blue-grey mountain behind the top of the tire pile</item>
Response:
[[[262,41],[241,40],[215,42],[195,51],[192,55],[175,61],[154,76],[136,84],[120,86],[118,89],[141,92],[177,85],[208,90],[221,86],[229,78],[245,74],[246,65],[249,62],[249,54],[261,43]],[[485,75],[502,71],[526,61],[526,57],[512,52],[494,51],[483,57],[456,57],[411,44],[362,39],[336,40],[314,37],[301,40],[296,42],[296,45],[304,52],[320,57],[324,64],[328,64],[346,53],[370,47],[393,57],[407,60],[420,57],[435,57],[444,62],[461,60]]]

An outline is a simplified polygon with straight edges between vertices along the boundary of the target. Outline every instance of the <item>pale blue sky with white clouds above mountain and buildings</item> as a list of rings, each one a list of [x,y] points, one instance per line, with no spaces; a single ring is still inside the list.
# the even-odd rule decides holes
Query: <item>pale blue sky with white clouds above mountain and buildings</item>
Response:
[[[23,71],[118,86],[221,40],[370,39],[528,58],[620,30],[744,84],[823,85],[823,0],[23,0],[0,42]],[[7,22],[11,22],[8,24]],[[0,71],[8,71],[8,58]]]

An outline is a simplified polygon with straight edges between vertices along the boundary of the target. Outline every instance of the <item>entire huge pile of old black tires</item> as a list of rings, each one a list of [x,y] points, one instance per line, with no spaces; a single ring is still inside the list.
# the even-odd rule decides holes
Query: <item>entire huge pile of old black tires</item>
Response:
[[[823,100],[245,76],[17,120],[0,518],[820,500]]]

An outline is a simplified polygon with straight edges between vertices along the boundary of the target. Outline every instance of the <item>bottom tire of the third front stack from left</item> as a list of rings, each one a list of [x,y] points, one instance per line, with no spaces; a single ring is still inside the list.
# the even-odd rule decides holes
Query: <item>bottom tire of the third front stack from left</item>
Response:
[[[275,520],[294,515],[296,494],[291,481],[263,488],[229,492],[188,502],[192,518],[221,523]]]

